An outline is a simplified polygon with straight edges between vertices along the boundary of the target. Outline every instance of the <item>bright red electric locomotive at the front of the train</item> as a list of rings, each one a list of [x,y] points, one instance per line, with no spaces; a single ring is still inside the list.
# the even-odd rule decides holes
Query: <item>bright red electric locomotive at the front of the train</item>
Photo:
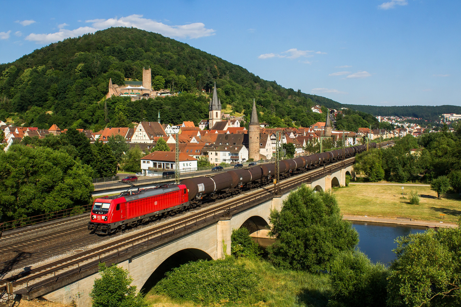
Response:
[[[119,196],[97,198],[91,210],[88,229],[91,233],[109,234],[148,220],[189,208],[185,185],[159,185],[154,188],[124,192]]]

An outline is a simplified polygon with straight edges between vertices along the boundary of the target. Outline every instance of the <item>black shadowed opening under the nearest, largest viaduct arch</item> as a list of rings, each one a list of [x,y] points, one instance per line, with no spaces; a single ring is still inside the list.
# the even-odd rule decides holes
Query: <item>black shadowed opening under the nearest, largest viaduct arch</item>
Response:
[[[166,258],[159,266],[154,269],[154,272],[152,272],[150,277],[142,286],[141,292],[147,293],[152,287],[154,287],[154,285],[156,285],[162,278],[165,277],[166,272],[169,272],[172,269],[190,261],[197,261],[200,259],[212,260],[212,257],[201,249],[190,248],[177,251],[173,255],[170,255],[168,258]]]

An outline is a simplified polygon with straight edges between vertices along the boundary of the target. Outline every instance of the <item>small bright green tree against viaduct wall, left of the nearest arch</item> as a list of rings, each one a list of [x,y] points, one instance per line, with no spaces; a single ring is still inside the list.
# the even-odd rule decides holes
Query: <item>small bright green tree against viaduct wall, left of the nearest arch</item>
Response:
[[[99,264],[101,278],[96,278],[89,293],[92,307],[147,307],[141,295],[136,295],[136,286],[130,286],[133,278],[128,270],[116,264],[107,267]]]

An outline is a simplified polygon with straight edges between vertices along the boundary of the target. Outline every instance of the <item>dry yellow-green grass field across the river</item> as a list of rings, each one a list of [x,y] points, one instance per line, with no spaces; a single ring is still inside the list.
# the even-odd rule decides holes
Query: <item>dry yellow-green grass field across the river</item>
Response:
[[[421,196],[419,205],[408,201],[411,191],[417,191]],[[461,214],[461,199],[458,194],[443,194],[437,199],[437,193],[429,186],[405,186],[402,199],[400,185],[349,185],[333,188],[342,214],[406,217],[419,220],[440,221],[440,214],[445,214],[444,220],[456,222]]]

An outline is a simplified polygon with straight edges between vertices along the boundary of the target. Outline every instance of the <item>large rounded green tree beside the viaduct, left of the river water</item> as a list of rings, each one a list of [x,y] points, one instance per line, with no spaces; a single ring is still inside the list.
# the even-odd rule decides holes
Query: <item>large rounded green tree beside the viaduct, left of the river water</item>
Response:
[[[342,220],[336,198],[330,192],[315,192],[302,185],[290,193],[282,210],[272,211],[269,259],[277,266],[318,272],[329,270],[343,250],[352,250],[358,234]]]

